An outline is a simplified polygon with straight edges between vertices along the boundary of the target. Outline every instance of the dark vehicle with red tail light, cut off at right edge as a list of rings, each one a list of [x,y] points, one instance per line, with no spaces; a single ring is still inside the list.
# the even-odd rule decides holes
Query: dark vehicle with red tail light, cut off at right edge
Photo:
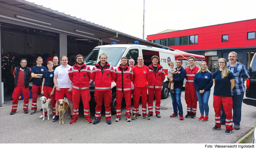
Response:
[[[246,80],[246,90],[243,103],[256,107],[256,53],[253,56],[248,68],[250,79]]]

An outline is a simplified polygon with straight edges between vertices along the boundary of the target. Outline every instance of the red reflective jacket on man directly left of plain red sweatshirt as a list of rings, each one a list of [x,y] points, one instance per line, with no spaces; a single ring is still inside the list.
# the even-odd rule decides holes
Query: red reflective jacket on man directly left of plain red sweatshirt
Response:
[[[131,81],[133,81],[133,71],[127,65],[125,68],[120,64],[115,68],[116,78],[116,91],[117,92],[130,92],[131,91]]]

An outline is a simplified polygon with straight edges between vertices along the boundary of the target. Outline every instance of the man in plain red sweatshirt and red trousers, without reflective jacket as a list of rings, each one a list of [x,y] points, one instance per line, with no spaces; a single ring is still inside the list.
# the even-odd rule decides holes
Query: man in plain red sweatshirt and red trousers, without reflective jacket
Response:
[[[143,65],[143,57],[138,57],[138,65],[132,68],[133,71],[133,84],[134,84],[134,104],[132,109],[132,120],[136,120],[139,114],[139,101],[141,95],[142,101],[142,118],[149,120],[147,116],[147,80],[149,69]]]

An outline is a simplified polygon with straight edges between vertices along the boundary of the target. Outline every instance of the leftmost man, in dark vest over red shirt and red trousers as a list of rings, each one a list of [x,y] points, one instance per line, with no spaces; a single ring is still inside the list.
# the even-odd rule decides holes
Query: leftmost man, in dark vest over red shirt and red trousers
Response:
[[[24,104],[23,104],[23,110],[24,113],[28,113],[28,101],[29,101],[29,81],[32,79],[31,77],[31,68],[27,67],[27,60],[21,59],[20,60],[20,66],[15,67],[13,71],[14,76],[14,91],[12,94],[13,101],[12,101],[12,111],[10,112],[10,115],[13,115],[16,113],[17,106],[18,106],[18,100],[20,93],[22,92],[24,97]]]

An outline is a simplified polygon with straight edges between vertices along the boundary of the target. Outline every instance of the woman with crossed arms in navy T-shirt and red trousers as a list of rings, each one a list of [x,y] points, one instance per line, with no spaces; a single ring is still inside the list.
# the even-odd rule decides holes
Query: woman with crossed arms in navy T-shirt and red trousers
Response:
[[[42,63],[43,63],[43,59],[39,56],[37,58],[37,65],[33,66],[31,70],[33,83],[32,83],[32,107],[31,107],[32,111],[30,112],[30,114],[34,114],[35,111],[37,110],[37,96],[39,93],[41,93],[41,90],[42,90],[42,82],[43,82],[42,75],[45,71],[47,71],[46,67],[44,67]]]

